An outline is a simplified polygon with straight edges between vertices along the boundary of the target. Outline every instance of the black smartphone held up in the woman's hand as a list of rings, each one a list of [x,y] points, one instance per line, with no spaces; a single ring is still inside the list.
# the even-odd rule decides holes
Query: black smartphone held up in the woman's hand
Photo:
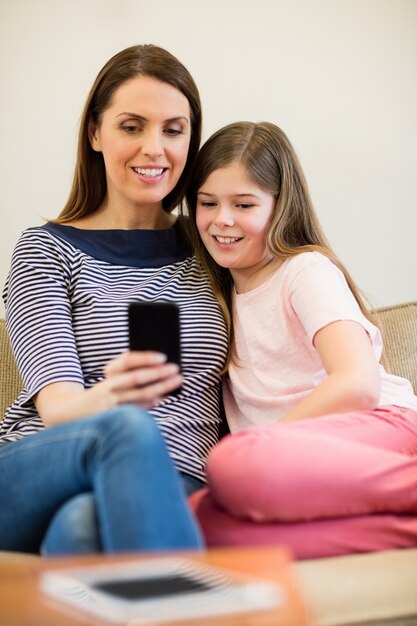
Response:
[[[132,302],[128,309],[130,350],[152,350],[181,369],[180,313],[175,302]]]

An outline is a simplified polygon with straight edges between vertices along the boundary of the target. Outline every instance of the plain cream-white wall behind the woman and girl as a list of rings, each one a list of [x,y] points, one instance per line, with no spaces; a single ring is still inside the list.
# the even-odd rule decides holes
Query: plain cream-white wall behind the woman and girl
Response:
[[[0,283],[22,229],[65,202],[101,66],[168,48],[205,137],[268,119],[293,141],[325,231],[376,306],[417,299],[416,0],[0,0]]]

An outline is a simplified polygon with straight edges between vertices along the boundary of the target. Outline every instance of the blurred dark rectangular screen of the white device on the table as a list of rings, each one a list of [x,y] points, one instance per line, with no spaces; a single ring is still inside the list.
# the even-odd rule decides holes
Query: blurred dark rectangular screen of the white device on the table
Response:
[[[94,589],[105,591],[124,600],[144,600],[149,598],[174,596],[181,593],[207,591],[210,585],[183,574],[110,580],[94,585]]]

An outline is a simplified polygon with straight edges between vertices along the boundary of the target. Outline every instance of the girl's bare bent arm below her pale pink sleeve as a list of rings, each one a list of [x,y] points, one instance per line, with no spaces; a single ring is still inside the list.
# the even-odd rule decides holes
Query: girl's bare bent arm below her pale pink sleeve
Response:
[[[378,363],[369,337],[359,323],[337,321],[314,337],[327,377],[280,422],[374,409],[380,397]]]

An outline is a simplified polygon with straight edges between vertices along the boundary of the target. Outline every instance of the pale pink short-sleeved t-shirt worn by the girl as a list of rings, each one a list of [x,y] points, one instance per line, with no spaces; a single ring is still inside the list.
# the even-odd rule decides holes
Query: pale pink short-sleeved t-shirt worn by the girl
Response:
[[[326,376],[315,334],[339,320],[359,322],[379,362],[381,334],[362,314],[342,272],[319,252],[287,259],[265,283],[233,295],[238,361],[223,384],[231,432],[277,421]],[[380,365],[378,406],[417,410],[408,380]]]

